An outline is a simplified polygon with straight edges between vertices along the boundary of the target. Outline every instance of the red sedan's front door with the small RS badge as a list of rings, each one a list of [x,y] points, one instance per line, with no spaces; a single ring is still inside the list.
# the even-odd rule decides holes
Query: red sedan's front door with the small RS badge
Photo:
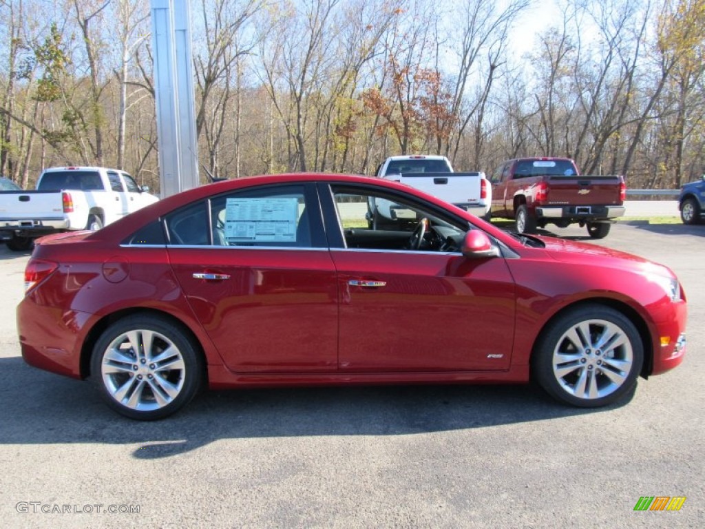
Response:
[[[374,193],[364,187],[333,188],[336,214],[326,217],[326,222],[340,223],[327,232],[343,237],[331,243],[341,305],[340,370],[507,369],[515,284],[505,260],[468,260],[439,246],[435,252],[405,249],[414,229],[412,219],[434,214],[418,204],[396,202],[389,208],[395,219],[388,219],[383,231],[360,227],[357,219],[364,217],[369,198],[382,198]],[[434,236],[462,239],[465,233],[462,221],[458,226],[443,224],[442,219],[428,224],[436,226]]]

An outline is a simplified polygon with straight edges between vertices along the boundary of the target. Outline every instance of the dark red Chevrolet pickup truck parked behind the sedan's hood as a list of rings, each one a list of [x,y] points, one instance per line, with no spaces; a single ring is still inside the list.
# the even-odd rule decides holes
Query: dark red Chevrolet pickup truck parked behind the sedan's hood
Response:
[[[592,238],[603,238],[624,214],[623,176],[581,175],[570,158],[507,160],[490,182],[491,216],[514,219],[519,233],[577,223],[587,226]]]

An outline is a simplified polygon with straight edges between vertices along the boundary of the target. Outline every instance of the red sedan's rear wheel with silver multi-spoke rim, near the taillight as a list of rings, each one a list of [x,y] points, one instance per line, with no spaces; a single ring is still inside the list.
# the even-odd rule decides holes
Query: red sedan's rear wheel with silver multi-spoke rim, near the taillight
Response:
[[[159,358],[167,349],[171,354]],[[154,315],[132,315],[112,324],[91,358],[92,379],[108,406],[137,420],[165,418],[183,408],[200,389],[203,370],[192,338]]]

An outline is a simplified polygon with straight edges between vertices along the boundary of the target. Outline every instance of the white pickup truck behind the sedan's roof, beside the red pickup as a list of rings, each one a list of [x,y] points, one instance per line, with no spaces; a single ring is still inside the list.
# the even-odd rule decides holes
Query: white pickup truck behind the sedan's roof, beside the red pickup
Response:
[[[489,218],[492,204],[492,188],[481,171],[456,173],[450,160],[433,154],[412,154],[392,156],[379,165],[378,178],[385,178],[439,197],[441,200],[466,209],[477,217]],[[377,200],[369,204],[368,222],[370,227],[384,228],[390,220],[396,219],[393,202]]]

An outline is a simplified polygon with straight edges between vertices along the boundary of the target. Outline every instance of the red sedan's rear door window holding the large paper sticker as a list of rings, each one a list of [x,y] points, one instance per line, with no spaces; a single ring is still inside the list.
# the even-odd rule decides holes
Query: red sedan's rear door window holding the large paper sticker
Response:
[[[210,201],[213,244],[311,248],[304,186],[228,193]]]

